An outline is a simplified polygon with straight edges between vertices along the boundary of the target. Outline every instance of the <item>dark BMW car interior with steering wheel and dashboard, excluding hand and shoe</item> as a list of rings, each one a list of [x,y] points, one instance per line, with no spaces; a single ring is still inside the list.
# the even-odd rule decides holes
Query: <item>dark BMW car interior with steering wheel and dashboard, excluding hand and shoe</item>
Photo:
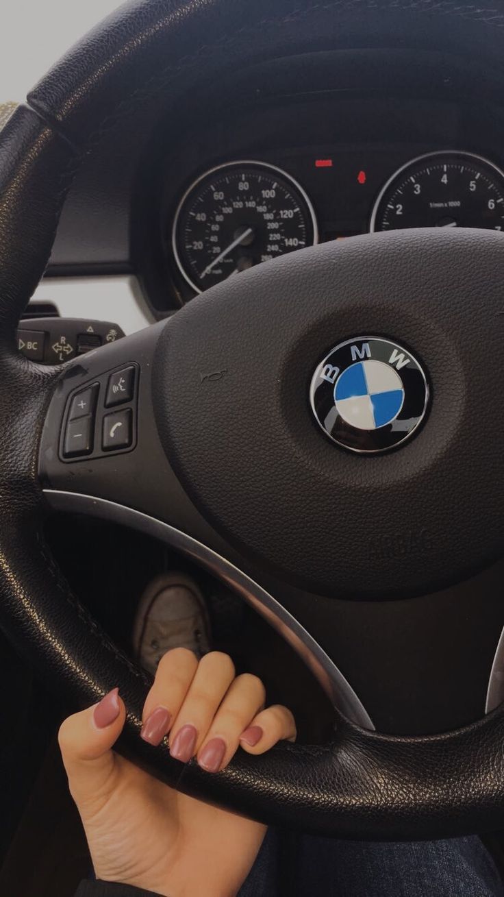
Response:
[[[3,897],[87,875],[56,733],[115,684],[187,794],[504,870],[503,26],[134,0],[0,96]],[[296,745],[138,743],[173,571]]]

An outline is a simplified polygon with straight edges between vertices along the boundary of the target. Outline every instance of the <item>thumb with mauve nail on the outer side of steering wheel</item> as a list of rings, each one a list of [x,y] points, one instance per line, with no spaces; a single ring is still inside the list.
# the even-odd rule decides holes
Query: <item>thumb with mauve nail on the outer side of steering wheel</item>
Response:
[[[105,801],[115,786],[117,761],[111,747],[126,719],[118,691],[112,689],[100,703],[66,718],[59,729],[68,785],[79,809]]]

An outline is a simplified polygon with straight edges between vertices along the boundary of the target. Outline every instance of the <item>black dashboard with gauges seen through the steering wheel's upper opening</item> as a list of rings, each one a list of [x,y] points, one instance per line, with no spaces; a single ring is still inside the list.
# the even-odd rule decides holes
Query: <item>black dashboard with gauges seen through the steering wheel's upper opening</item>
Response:
[[[500,231],[502,86],[465,59],[371,49],[272,60],[178,108],[152,98],[84,160],[35,299],[60,297],[67,315],[78,294],[84,318],[100,290],[103,317],[130,333],[316,242],[395,227]]]

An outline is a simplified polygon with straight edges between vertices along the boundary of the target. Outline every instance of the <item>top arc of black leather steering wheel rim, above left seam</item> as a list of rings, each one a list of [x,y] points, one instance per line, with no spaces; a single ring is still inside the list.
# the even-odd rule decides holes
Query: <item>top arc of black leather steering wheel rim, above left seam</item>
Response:
[[[120,6],[30,91],[34,109],[89,145],[143,97],[311,47],[455,49],[502,66],[501,3],[453,0],[135,0]]]

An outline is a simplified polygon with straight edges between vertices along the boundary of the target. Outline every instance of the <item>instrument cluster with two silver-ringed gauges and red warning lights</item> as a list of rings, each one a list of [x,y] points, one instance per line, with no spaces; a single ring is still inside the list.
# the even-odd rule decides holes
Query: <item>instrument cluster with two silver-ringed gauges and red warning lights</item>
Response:
[[[450,148],[404,161],[404,152],[303,150],[197,173],[164,231],[187,298],[318,241],[398,228],[502,231],[504,172],[496,161]]]

